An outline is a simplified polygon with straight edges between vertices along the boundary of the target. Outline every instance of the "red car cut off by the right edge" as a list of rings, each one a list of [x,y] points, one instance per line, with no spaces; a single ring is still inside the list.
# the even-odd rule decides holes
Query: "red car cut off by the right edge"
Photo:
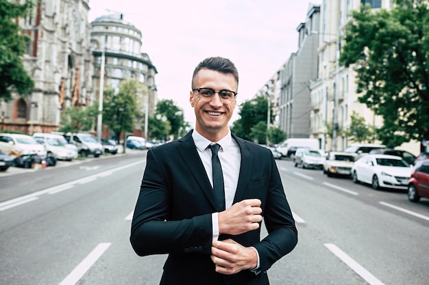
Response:
[[[418,161],[408,182],[408,200],[419,202],[429,198],[429,159]]]

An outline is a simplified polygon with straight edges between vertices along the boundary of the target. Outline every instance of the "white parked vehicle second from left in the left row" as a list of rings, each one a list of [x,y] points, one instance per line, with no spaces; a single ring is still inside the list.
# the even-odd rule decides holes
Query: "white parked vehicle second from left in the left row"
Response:
[[[77,157],[77,148],[68,144],[65,137],[51,133],[34,133],[34,139],[45,146],[47,153],[53,154],[56,159],[71,161]]]

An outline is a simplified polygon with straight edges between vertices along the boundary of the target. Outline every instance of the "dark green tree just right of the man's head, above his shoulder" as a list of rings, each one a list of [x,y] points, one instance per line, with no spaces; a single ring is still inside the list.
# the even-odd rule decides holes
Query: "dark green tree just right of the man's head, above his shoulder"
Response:
[[[267,108],[268,101],[265,96],[245,100],[239,107],[240,118],[232,124],[231,131],[238,137],[253,141],[254,137],[251,135],[253,126],[259,122],[265,122],[265,129],[267,129]],[[265,142],[265,140],[262,141]]]

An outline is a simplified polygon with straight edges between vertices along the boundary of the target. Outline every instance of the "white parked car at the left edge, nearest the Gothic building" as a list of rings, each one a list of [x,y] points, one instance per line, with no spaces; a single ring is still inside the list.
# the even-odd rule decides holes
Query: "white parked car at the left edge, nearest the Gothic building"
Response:
[[[45,156],[46,150],[31,135],[21,135],[16,133],[0,133],[0,150],[5,154],[19,157],[25,154],[37,154]]]

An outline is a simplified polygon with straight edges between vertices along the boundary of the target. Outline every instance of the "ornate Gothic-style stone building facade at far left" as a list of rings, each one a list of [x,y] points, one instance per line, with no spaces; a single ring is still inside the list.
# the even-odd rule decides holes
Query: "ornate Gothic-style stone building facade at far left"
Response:
[[[88,0],[40,0],[19,25],[30,42],[23,64],[35,86],[1,102],[2,129],[24,133],[58,129],[60,114],[92,98]]]

